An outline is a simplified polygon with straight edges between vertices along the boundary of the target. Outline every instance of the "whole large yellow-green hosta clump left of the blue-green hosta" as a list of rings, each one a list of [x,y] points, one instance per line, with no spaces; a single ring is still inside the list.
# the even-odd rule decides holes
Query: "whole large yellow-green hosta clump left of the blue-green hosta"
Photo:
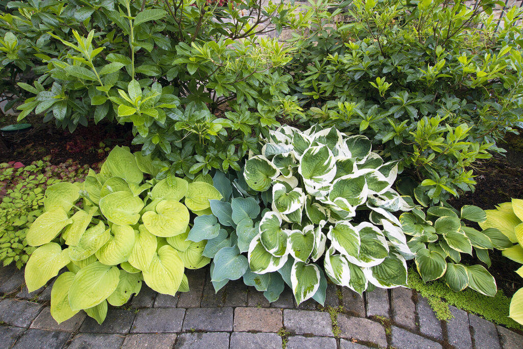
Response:
[[[210,262],[207,240],[183,242],[189,211],[202,215],[209,199],[222,195],[207,178],[188,183],[165,177],[150,157],[116,147],[99,174],[90,171],[79,185],[47,188],[44,212],[27,241],[40,246],[31,255],[25,279],[29,291],[61,274],[51,291],[51,315],[59,323],[85,310],[99,323],[107,304],[121,306],[145,281],[162,294],[188,291],[185,268]],[[145,179],[148,174],[151,179]],[[82,199],[83,205],[77,205]]]

